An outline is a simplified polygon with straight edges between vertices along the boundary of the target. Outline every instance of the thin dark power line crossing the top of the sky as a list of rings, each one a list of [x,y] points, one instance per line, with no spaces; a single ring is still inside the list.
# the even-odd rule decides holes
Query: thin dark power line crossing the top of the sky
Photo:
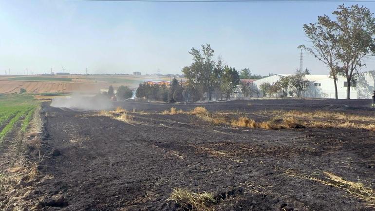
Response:
[[[133,1],[133,2],[200,2],[200,3],[340,3],[375,2],[375,0],[86,0],[86,1]]]

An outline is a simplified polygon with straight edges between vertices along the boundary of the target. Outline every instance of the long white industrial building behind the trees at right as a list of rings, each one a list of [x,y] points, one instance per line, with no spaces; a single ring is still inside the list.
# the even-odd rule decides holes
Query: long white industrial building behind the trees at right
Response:
[[[280,77],[287,76],[289,75],[276,74],[253,81],[253,90],[256,92],[255,95],[253,94],[253,97],[263,97],[263,93],[259,89],[259,86],[262,83],[267,82],[273,84],[279,80]],[[310,86],[305,90],[304,97],[335,98],[334,81],[328,75],[306,75],[306,79],[310,81]],[[345,99],[347,92],[347,82],[345,77],[338,77],[337,88],[338,98]],[[352,82],[350,98],[369,99],[373,94],[373,90],[375,90],[375,71],[358,73],[354,82]],[[281,96],[281,94],[278,94],[277,96]]]

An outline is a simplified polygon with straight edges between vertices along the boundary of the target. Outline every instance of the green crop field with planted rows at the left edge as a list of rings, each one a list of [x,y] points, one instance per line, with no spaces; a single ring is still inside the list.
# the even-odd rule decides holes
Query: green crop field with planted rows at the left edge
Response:
[[[0,95],[0,142],[18,123],[25,133],[37,106],[34,96]]]

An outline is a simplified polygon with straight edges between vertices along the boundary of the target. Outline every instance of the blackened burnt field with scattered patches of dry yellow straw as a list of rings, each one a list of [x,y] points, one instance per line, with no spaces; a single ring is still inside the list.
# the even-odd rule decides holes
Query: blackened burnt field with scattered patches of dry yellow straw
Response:
[[[40,148],[29,147],[38,191],[28,197],[44,211],[372,211],[369,103],[44,104]],[[189,112],[197,106],[207,111]]]

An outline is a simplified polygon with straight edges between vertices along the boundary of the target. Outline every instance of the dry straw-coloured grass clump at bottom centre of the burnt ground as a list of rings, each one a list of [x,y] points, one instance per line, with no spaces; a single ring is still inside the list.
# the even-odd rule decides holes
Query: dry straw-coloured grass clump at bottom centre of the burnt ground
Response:
[[[167,200],[190,211],[209,211],[207,205],[216,202],[212,193],[195,193],[182,188],[173,189]]]

